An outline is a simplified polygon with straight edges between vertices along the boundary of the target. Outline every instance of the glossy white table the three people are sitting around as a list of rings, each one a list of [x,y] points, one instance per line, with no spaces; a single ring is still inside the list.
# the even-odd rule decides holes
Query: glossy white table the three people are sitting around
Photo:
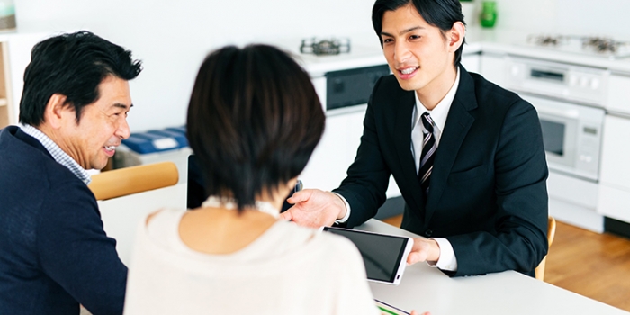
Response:
[[[104,229],[118,241],[121,260],[129,265],[131,247],[139,220],[164,207],[185,207],[185,184],[98,202]],[[369,220],[357,229],[413,236],[379,220]],[[403,310],[446,314],[630,314],[546,284],[527,275],[507,271],[499,274],[450,278],[421,263],[408,266],[399,286],[370,283],[374,297]]]

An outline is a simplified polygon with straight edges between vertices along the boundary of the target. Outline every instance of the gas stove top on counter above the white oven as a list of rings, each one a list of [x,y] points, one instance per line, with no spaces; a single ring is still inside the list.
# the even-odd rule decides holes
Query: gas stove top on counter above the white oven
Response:
[[[630,57],[630,42],[610,37],[532,34],[527,45],[610,59]]]

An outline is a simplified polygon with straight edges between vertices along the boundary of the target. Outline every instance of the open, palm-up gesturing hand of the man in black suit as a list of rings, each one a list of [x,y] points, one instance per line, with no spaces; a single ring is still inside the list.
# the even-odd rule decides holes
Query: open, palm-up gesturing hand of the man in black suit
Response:
[[[346,215],[346,205],[341,198],[319,189],[304,189],[293,193],[286,201],[293,207],[280,213],[280,219],[293,220],[306,227],[331,226]]]

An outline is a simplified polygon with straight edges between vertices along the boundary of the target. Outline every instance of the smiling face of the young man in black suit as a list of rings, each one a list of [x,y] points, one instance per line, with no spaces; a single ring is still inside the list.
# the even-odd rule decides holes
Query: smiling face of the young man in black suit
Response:
[[[422,93],[453,85],[446,73],[455,73],[455,50],[445,37],[450,31],[429,25],[411,4],[383,14],[383,53],[402,89]]]

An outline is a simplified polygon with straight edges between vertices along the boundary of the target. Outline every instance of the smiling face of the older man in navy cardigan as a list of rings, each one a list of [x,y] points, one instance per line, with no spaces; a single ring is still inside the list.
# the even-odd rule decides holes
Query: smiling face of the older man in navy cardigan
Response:
[[[100,98],[83,108],[76,124],[74,110],[66,112],[58,143],[70,157],[85,169],[101,169],[113,156],[121,139],[130,136],[127,112],[131,108],[129,83],[107,76],[98,85]],[[68,106],[71,107],[71,106]],[[75,116],[76,117],[76,116]]]

